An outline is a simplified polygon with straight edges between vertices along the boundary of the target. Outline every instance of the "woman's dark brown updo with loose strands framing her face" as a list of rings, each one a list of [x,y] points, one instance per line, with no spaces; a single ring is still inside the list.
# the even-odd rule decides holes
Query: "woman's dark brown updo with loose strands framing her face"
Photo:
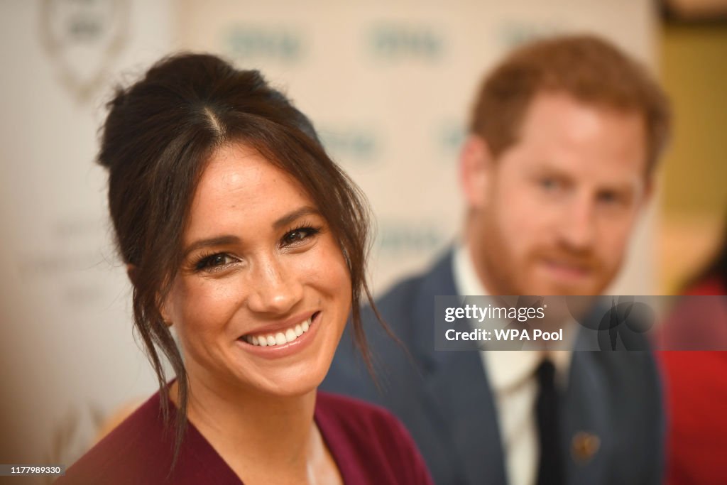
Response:
[[[169,400],[161,354],[177,376],[175,460],[186,425],[189,384],[159,304],[182,262],[182,234],[198,180],[222,145],[244,143],[257,149],[315,201],[347,262],[354,334],[371,369],[360,315],[363,297],[373,308],[365,275],[368,206],[326,155],[308,118],[259,72],[199,54],[161,60],[132,86],[117,89],[108,108],[98,161],[108,169],[108,205],[119,252],[130,268],[134,325],[158,377],[165,422]]]

